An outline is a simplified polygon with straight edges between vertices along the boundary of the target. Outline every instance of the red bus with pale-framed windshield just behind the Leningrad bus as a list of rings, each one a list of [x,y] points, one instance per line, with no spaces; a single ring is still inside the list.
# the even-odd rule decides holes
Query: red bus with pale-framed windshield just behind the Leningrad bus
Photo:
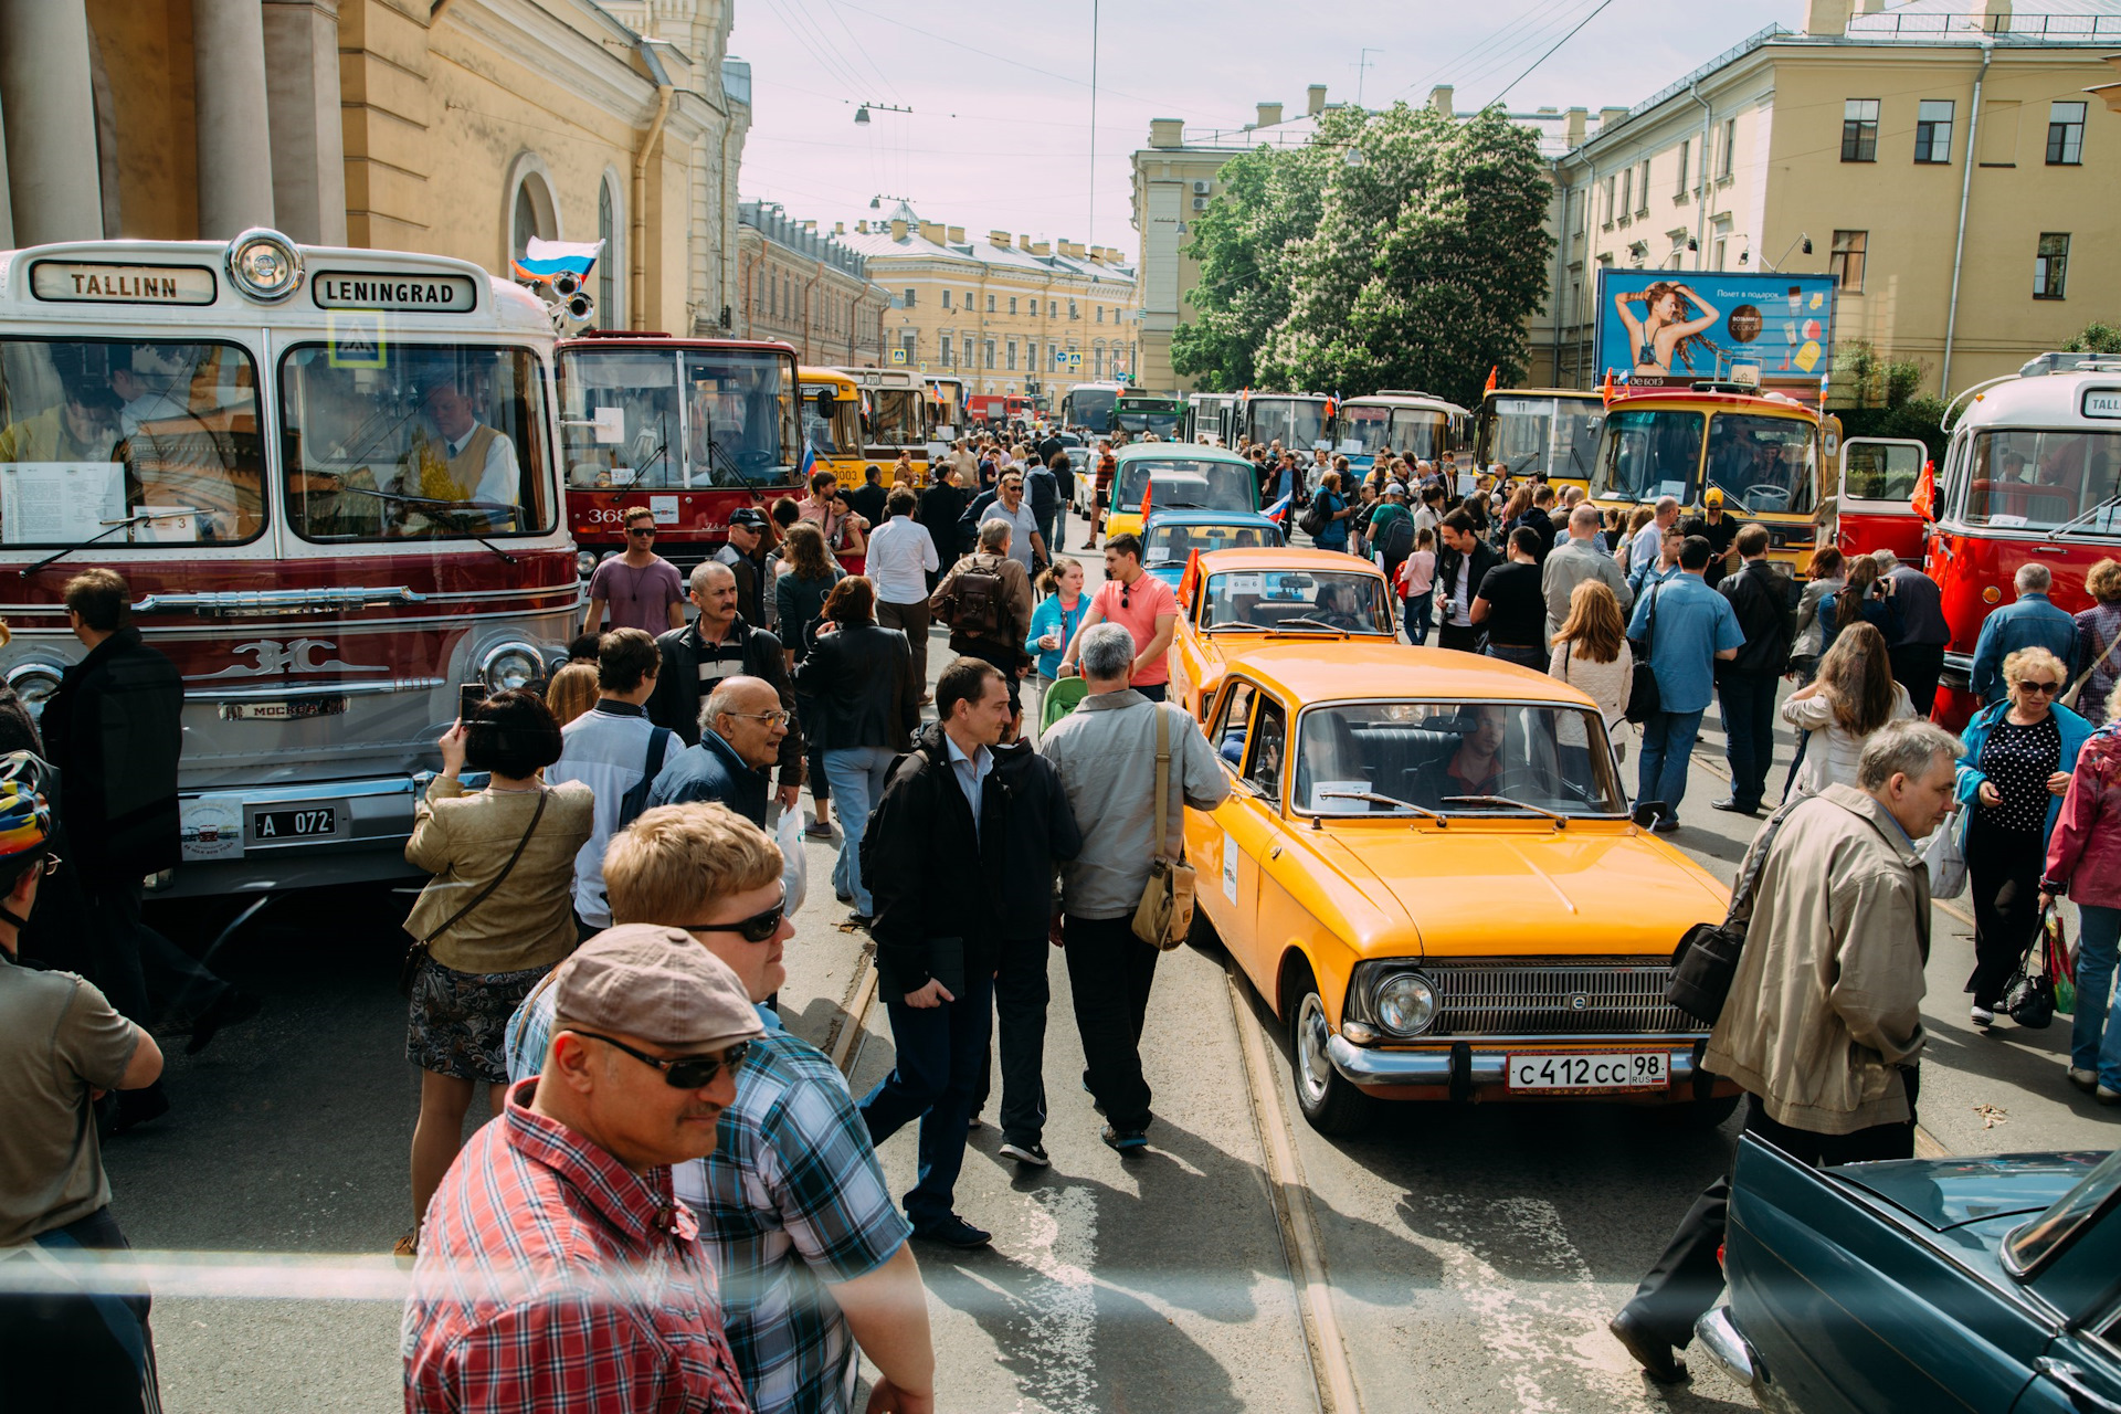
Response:
[[[795,348],[600,333],[560,341],[566,522],[588,579],[626,549],[626,513],[655,513],[679,570],[721,549],[730,511],[802,496]]]

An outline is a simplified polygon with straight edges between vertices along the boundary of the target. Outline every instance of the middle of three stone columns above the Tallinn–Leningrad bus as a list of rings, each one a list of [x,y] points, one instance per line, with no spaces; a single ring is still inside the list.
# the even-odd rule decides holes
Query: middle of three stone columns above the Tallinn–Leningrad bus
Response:
[[[199,235],[227,240],[274,223],[265,17],[259,0],[193,0],[199,125]]]

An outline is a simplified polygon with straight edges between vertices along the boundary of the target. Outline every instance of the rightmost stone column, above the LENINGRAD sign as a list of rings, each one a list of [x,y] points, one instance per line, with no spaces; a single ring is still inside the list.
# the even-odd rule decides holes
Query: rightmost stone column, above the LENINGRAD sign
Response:
[[[265,0],[271,206],[305,246],[346,244],[339,0]]]

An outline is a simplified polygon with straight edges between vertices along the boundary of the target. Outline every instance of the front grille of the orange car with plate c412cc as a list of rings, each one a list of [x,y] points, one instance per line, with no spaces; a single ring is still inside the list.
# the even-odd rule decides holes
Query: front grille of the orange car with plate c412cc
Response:
[[[1690,1035],[1701,1026],[1665,1001],[1671,967],[1650,965],[1438,965],[1436,1037]]]

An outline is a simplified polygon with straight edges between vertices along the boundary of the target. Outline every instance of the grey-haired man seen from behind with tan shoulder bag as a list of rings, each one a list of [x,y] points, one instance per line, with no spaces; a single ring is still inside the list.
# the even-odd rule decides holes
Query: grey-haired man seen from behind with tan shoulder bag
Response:
[[[1186,812],[1213,810],[1230,795],[1200,725],[1184,710],[1150,702],[1133,687],[1135,636],[1120,623],[1082,632],[1077,655],[1088,695],[1039,742],[1060,772],[1082,852],[1060,869],[1067,979],[1088,1062],[1090,1094],[1105,1109],[1105,1143],[1143,1149],[1150,1083],[1141,1075],[1141,1022],[1150,1009],[1158,950],[1135,937],[1135,907],[1156,856],[1156,810],[1164,812],[1164,856],[1184,848]],[[1167,723],[1169,786],[1156,799],[1156,723]]]

